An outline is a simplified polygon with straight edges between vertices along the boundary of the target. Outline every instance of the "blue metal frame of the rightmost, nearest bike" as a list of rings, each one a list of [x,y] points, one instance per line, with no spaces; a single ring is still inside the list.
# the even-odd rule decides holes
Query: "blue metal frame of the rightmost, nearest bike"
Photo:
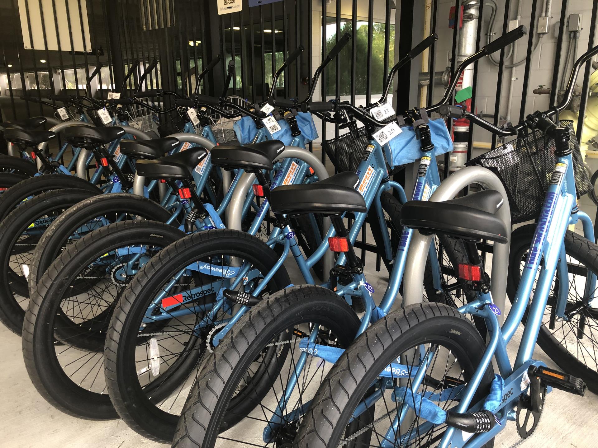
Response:
[[[499,405],[496,416],[501,422],[501,425],[496,425],[489,432],[481,434],[469,434],[462,431],[448,427],[443,435],[440,448],[448,448],[449,446],[455,448],[477,448],[483,446],[489,440],[498,434],[503,429],[508,419],[512,416],[509,414],[512,407],[518,400],[521,392],[527,389],[527,384],[523,382],[524,376],[530,366],[545,366],[541,361],[532,359],[533,350],[538,339],[540,326],[542,323],[542,316],[544,309],[548,302],[550,294],[550,287],[553,284],[554,275],[559,271],[561,278],[568,277],[567,261],[565,256],[565,233],[570,224],[575,224],[578,220],[582,221],[584,228],[584,236],[590,241],[594,241],[593,228],[591,220],[587,214],[582,213],[577,209],[576,204],[576,190],[575,190],[575,176],[573,173],[573,162],[571,155],[565,157],[557,157],[557,162],[553,170],[550,185],[547,189],[547,194],[544,199],[539,214],[539,222],[533,235],[532,245],[530,246],[526,263],[523,268],[523,274],[518,285],[515,301],[512,305],[511,311],[505,323],[500,325],[498,316],[501,310],[494,305],[492,294],[478,293],[478,299],[467,305],[459,308],[459,312],[463,314],[472,314],[481,317],[486,322],[489,330],[490,340],[487,349],[484,352],[481,363],[475,370],[474,376],[463,389],[459,405],[454,409],[454,412],[466,412],[468,410],[481,409],[482,403],[477,403],[475,406],[470,406],[472,398],[475,395],[480,382],[489,367],[492,358],[496,359],[496,364],[499,373],[505,379],[505,386],[503,389],[503,400]],[[544,263],[541,265],[541,260]],[[539,273],[539,275],[538,275]],[[529,313],[527,315],[526,326],[524,328],[521,343],[517,351],[515,363],[511,363],[507,354],[507,344],[512,339],[512,336],[517,329],[518,324],[521,323],[524,312],[526,311],[529,297],[532,294],[533,282],[536,280],[535,293],[530,304]],[[559,300],[556,304],[556,314],[558,317],[565,318],[565,305],[568,297],[568,282],[559,282]],[[596,275],[588,275],[585,287],[584,297],[588,298],[588,293],[594,291],[596,288]],[[425,364],[422,364],[425,366]],[[425,369],[419,369],[424,371]],[[414,393],[417,391],[423,381],[423,375],[415,375],[411,389]],[[403,413],[401,416],[395,418],[395,422],[387,435],[392,439],[392,429],[396,428],[397,423],[401,424]],[[426,422],[422,425],[431,425]],[[417,428],[411,431],[422,430]],[[404,438],[410,438],[410,434],[405,434],[399,442],[404,442]],[[382,446],[385,446],[383,444]],[[391,445],[389,445],[391,446]],[[392,444],[392,446],[395,446]]]

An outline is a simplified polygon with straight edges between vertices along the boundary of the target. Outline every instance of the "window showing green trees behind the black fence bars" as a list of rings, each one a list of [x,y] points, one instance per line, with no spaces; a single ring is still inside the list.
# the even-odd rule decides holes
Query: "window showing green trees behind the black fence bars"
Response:
[[[395,51],[395,26],[390,24],[389,30],[389,55],[392,57]],[[350,19],[341,19],[340,23],[341,34],[353,32],[353,23]],[[385,23],[374,23],[372,33],[372,58],[370,65],[371,73],[371,93],[381,94],[384,80],[384,47],[385,47]],[[336,19],[335,17],[328,17],[328,24],[326,26],[326,48],[327,51],[332,50],[336,44]],[[367,57],[368,57],[368,22],[357,22],[356,29],[356,51],[355,51],[355,93],[357,95],[365,95],[367,92]],[[338,60],[346,63],[341,65],[340,70],[340,84],[338,85],[338,94],[341,96],[351,94],[351,53],[352,44],[349,42],[343,48],[338,56]],[[392,59],[389,62],[389,69],[393,65]],[[334,96],[336,94],[336,61],[333,60],[325,69],[326,77],[326,94],[327,96]]]

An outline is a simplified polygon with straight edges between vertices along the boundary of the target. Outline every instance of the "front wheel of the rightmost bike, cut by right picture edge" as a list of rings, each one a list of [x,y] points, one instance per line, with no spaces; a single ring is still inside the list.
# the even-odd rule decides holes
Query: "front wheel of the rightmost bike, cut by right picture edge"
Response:
[[[535,228],[534,224],[530,224],[512,232],[507,283],[511,303],[517,293]],[[556,305],[560,299],[558,284],[563,281],[557,272],[542,318],[538,345],[561,369],[583,379],[588,389],[598,393],[598,299],[594,299],[598,292],[594,289],[584,296],[588,273],[598,274],[598,246],[581,235],[567,231],[565,253],[568,268],[566,281],[569,283],[565,312],[570,317],[560,321],[556,318]],[[592,299],[593,306],[588,303]],[[524,325],[526,320],[527,311],[523,316]]]

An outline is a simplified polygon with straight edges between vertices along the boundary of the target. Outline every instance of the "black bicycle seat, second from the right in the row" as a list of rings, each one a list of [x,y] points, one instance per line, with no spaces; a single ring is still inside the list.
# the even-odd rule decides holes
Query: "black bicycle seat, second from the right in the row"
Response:
[[[282,185],[270,196],[272,211],[284,214],[338,214],[345,211],[368,211],[364,197],[355,189],[359,176],[351,171],[328,179],[300,185]]]

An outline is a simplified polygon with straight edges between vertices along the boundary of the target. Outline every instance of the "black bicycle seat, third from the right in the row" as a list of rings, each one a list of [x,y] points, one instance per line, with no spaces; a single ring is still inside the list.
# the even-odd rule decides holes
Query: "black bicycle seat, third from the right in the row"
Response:
[[[212,150],[212,164],[232,170],[243,168],[249,173],[271,170],[272,162],[285,149],[280,140],[266,140],[254,145],[220,145]]]

